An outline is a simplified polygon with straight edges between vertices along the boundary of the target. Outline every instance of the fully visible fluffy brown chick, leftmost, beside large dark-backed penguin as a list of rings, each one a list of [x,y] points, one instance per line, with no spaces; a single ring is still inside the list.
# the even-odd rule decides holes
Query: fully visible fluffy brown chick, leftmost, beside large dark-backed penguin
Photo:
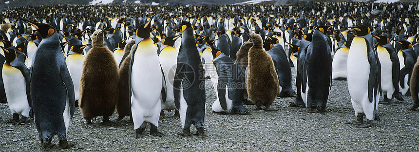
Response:
[[[103,46],[102,30],[92,34],[92,45],[83,63],[78,106],[87,128],[92,128],[95,116],[103,116],[104,125],[116,125],[109,116],[114,113],[119,95],[118,66],[112,51]]]

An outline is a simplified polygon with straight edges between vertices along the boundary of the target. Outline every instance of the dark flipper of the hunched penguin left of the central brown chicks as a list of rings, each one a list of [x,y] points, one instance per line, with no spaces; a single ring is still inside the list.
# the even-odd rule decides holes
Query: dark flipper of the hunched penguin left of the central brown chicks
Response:
[[[229,81],[229,75],[228,71],[226,69],[227,67],[217,64],[217,74],[218,74],[218,85],[217,85],[217,91],[218,91],[218,99],[220,100],[220,105],[223,110],[227,110],[227,101],[226,101],[226,88],[227,88],[227,82]]]

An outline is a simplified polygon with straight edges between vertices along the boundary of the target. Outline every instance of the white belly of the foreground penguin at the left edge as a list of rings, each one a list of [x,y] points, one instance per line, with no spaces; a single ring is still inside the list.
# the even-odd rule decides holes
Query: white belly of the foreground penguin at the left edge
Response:
[[[4,65],[2,69],[4,91],[7,103],[12,114],[21,114],[29,117],[28,98],[26,95],[26,82],[19,69]]]

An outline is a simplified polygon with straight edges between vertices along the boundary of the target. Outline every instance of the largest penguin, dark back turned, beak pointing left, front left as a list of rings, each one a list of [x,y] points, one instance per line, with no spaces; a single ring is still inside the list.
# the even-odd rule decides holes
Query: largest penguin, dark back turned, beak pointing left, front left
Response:
[[[57,31],[48,24],[21,20],[36,28],[43,38],[34,54],[30,74],[32,108],[41,147],[48,149],[57,134],[58,149],[70,148],[66,134],[70,116],[74,114],[74,86]]]

